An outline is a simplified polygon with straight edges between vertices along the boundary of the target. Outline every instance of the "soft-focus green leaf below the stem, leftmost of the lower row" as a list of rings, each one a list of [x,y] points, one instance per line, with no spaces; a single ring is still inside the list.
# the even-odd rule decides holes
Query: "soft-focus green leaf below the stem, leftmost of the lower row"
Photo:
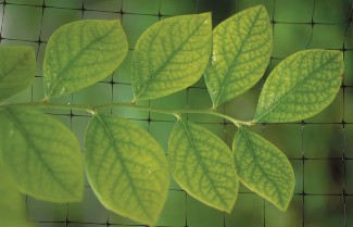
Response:
[[[80,201],[84,166],[76,137],[58,119],[0,109],[0,153],[20,191],[51,202]]]

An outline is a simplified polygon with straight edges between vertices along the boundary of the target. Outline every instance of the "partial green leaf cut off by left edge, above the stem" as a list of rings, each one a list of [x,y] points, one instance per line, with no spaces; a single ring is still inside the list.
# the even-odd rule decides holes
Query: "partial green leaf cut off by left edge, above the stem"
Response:
[[[31,47],[0,46],[0,102],[33,83],[36,75],[36,56]]]

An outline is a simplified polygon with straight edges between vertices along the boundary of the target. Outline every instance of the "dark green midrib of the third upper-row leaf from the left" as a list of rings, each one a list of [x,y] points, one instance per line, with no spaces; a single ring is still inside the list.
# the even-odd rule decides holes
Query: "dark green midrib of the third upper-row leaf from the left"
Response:
[[[192,33],[185,39],[182,40],[182,42],[179,45],[179,47],[177,47],[175,50],[172,51],[172,53],[169,54],[168,58],[166,58],[166,61],[154,72],[152,73],[152,68],[151,68],[151,58],[149,58],[149,71],[150,71],[150,76],[149,79],[147,80],[147,83],[144,83],[144,85],[142,85],[142,89],[138,92],[138,94],[136,94],[136,99],[138,99],[143,92],[144,90],[151,85],[151,83],[153,81],[153,79],[169,64],[169,62],[175,58],[175,55],[177,55],[179,53],[179,51],[182,49],[182,47],[189,41],[189,39],[191,39],[191,37],[198,31],[200,30],[200,27],[202,27],[204,21],[202,20],[202,22],[200,22],[200,24],[196,27],[194,30],[192,30]],[[173,39],[173,37],[172,37]],[[156,39],[152,39],[151,45],[149,46],[149,52],[151,52],[151,47],[152,45],[154,45],[156,41]]]

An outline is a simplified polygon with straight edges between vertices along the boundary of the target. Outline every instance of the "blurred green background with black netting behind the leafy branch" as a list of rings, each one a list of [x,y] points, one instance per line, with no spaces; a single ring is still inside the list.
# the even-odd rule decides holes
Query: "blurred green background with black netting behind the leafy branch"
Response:
[[[139,35],[167,16],[209,12],[213,24],[243,9],[264,4],[274,33],[268,72],[282,59],[308,48],[344,51],[345,74],[333,103],[302,123],[256,125],[253,130],[275,143],[290,159],[297,186],[287,212],[241,186],[231,214],[210,209],[172,182],[159,226],[171,227],[353,227],[353,23],[352,0],[0,0],[0,45],[33,46],[38,72],[33,87],[11,102],[43,98],[41,63],[46,43],[59,26],[86,18],[119,18],[129,41],[129,53],[113,75],[89,88],[54,102],[110,103],[130,101],[130,60]],[[264,78],[266,77],[264,76]],[[247,93],[220,108],[241,119],[253,117],[262,79]],[[211,106],[203,79],[175,94],[140,104],[155,108]],[[109,110],[130,118],[161,142],[167,155],[173,117],[129,109]],[[83,143],[89,116],[76,111],[52,111]],[[229,146],[235,126],[222,118],[190,114]],[[40,227],[141,226],[108,212],[86,182],[81,203],[53,204],[26,198],[28,218]]]

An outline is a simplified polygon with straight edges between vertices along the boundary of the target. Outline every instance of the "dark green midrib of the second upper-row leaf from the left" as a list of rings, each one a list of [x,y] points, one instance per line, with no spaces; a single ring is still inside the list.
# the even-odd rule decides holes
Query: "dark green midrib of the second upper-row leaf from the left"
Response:
[[[76,62],[76,60],[84,54],[84,52],[86,52],[86,50],[94,45],[96,42],[99,42],[100,40],[104,39],[105,37],[108,37],[118,25],[114,25],[112,26],[112,28],[110,30],[108,30],[103,36],[99,37],[98,39],[94,39],[93,41],[90,41],[89,43],[87,43],[85,47],[83,47],[78,53],[76,53],[74,56],[71,58],[71,60],[68,61],[68,63],[66,64],[66,66],[60,72],[58,73],[58,76],[55,78],[55,80],[53,81],[50,90],[47,93],[47,97],[50,98],[51,93],[54,91],[54,89],[56,88],[56,86],[59,85],[59,83],[63,79],[62,75],[65,74],[68,70],[71,70],[71,66]],[[74,60],[74,61],[73,61]],[[74,78],[72,78],[74,79]]]

